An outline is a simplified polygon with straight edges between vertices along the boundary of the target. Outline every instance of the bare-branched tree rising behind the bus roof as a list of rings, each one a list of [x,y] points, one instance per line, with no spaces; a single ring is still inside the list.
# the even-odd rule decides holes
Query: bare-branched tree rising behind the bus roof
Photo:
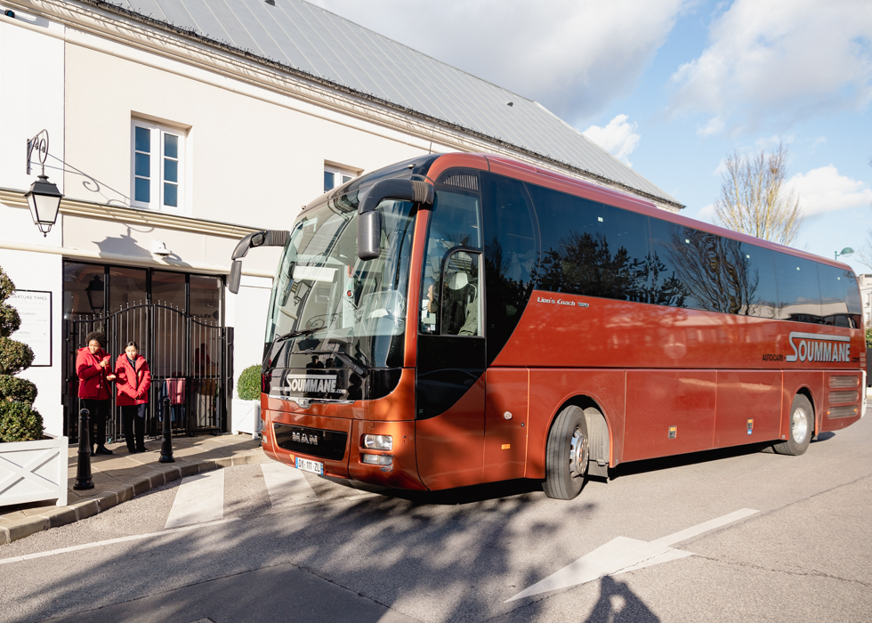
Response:
[[[787,147],[744,155],[731,153],[724,163],[721,196],[715,217],[724,227],[757,238],[792,245],[799,236],[803,214],[799,198],[786,188]]]

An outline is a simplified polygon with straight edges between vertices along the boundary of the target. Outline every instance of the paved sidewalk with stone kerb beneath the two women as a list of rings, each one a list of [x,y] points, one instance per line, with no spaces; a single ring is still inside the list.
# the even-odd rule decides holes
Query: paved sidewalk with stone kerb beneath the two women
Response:
[[[124,443],[108,444],[113,455],[91,457],[94,488],[73,489],[77,472],[77,445],[69,447],[68,506],[53,500],[0,506],[0,545],[12,543],[35,532],[49,530],[101,513],[155,487],[182,476],[231,465],[266,463],[260,441],[251,435],[207,435],[174,437],[175,463],[158,463],[161,440],[146,441],[148,452],[128,454]]]

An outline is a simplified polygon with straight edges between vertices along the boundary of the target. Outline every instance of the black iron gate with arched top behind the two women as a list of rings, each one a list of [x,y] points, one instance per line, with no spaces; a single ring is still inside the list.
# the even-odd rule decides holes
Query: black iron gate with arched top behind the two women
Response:
[[[139,344],[149,362],[151,387],[146,415],[146,434],[162,429],[160,406],[169,398],[174,433],[222,433],[227,430],[224,379],[228,377],[227,329],[218,320],[194,317],[172,303],[127,303],[117,312],[73,314],[64,320],[64,433],[78,439],[78,378],[75,361],[91,331],[103,331],[112,365],[125,344]],[[112,396],[112,417],[107,424],[110,441],[124,437],[121,409]]]

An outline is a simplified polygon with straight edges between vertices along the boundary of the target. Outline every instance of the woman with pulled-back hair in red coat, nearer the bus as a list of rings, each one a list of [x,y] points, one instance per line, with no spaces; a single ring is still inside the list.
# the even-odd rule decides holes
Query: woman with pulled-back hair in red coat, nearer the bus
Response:
[[[149,362],[139,354],[139,346],[128,342],[125,353],[118,355],[115,363],[115,384],[117,396],[115,404],[121,408],[121,420],[125,427],[127,451],[145,452],[145,409],[149,406],[149,386],[151,371]],[[133,431],[135,430],[135,444]]]

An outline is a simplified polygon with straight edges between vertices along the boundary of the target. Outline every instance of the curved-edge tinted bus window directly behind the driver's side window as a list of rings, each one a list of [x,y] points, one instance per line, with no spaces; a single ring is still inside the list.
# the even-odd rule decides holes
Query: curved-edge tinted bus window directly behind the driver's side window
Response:
[[[488,361],[496,359],[521,319],[537,272],[537,228],[517,180],[481,174],[488,289]]]

